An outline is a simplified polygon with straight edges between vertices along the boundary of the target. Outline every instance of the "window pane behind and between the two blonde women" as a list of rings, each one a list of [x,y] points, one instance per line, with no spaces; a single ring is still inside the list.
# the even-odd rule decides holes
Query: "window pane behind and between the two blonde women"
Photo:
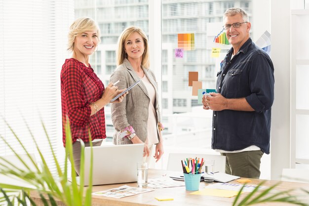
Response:
[[[98,51],[91,55],[90,64],[95,68],[98,77],[107,85],[111,74],[116,69],[116,43],[121,32],[128,26],[142,28],[149,32],[148,0],[74,0],[75,18],[89,16],[99,25],[101,44]],[[89,14],[89,9],[92,9]],[[97,12],[95,12],[95,9]],[[95,15],[97,14],[97,15]],[[111,142],[114,126],[111,120],[110,105],[105,107],[106,141]]]

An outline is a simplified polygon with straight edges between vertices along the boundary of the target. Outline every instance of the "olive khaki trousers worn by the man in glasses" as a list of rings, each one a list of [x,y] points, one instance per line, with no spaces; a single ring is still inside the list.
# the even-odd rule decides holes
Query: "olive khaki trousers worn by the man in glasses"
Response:
[[[261,150],[245,151],[239,153],[221,153],[226,156],[225,172],[240,177],[260,178]]]

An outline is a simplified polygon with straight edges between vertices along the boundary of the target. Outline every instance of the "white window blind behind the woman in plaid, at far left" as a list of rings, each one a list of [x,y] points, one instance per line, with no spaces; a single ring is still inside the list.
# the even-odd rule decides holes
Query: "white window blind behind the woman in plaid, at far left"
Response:
[[[0,0],[0,135],[23,153],[5,120],[28,151],[35,151],[27,122],[51,167],[41,120],[60,154],[60,70],[73,18],[73,0]],[[0,140],[0,155],[10,154]]]

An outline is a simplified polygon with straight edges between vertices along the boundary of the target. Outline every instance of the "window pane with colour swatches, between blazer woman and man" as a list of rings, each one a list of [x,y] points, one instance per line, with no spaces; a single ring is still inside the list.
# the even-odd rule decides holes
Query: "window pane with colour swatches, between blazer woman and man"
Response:
[[[164,101],[172,102],[164,105],[162,113],[167,120],[164,124],[169,128],[163,132],[166,148],[178,152],[213,152],[210,149],[212,112],[203,110],[197,96],[192,95],[188,75],[198,72],[202,88],[215,88],[216,72],[220,68],[216,68],[216,59],[207,48],[207,25],[222,22],[225,10],[233,6],[252,9],[252,0],[162,0],[162,91],[168,91]],[[183,58],[175,58],[174,54],[178,34],[194,34],[194,48],[185,50]],[[171,55],[166,55],[168,53]],[[169,85],[168,90],[166,85]],[[202,139],[203,143],[190,145],[184,137],[192,142]]]

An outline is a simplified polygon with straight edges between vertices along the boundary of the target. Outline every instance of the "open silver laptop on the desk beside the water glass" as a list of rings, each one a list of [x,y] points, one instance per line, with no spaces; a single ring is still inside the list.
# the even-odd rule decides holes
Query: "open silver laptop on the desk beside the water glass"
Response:
[[[137,162],[143,161],[144,144],[98,146],[92,150],[92,185],[137,181]],[[91,148],[85,147],[84,186],[89,185],[90,152]]]

